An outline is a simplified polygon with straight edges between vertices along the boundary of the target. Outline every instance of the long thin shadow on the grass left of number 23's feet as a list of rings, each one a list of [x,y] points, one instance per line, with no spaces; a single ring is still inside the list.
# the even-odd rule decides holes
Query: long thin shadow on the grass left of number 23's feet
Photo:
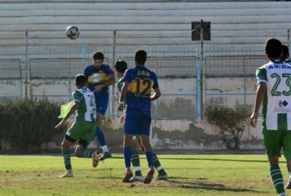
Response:
[[[178,182],[172,179],[179,179],[180,177],[171,177],[167,182],[172,184],[172,186],[178,186],[179,188],[193,188],[193,189],[205,189],[205,190],[220,190],[220,191],[230,191],[230,192],[251,192],[251,193],[266,193],[264,191],[252,190],[248,188],[231,188],[224,186],[224,184],[217,184],[211,182]]]

